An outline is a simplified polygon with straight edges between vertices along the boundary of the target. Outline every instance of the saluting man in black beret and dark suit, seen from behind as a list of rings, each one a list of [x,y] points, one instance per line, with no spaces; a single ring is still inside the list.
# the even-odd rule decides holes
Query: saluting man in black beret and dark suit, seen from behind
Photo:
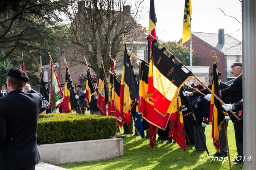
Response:
[[[40,161],[37,121],[48,101],[28,81],[19,68],[11,68],[7,74],[9,94],[0,98],[0,170],[35,170]]]

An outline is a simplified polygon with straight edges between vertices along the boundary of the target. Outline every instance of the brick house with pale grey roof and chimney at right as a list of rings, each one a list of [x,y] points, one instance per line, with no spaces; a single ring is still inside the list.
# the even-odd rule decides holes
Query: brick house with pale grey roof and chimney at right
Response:
[[[189,41],[185,42],[184,45],[189,47]],[[224,29],[219,29],[218,34],[192,32],[192,49],[199,57],[200,66],[209,66],[209,72],[212,71],[213,65],[211,51],[215,51],[218,71],[222,74],[221,80],[223,82],[234,78],[230,72],[232,63],[242,62],[242,42],[224,34]]]

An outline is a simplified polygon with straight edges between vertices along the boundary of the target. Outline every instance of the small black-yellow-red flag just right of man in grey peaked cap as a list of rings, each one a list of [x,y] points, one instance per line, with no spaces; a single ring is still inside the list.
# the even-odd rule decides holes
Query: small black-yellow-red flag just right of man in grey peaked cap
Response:
[[[89,68],[87,69],[87,79],[86,79],[86,92],[85,92],[85,100],[87,102],[87,106],[90,108],[90,101],[92,100],[92,96],[96,94],[96,90],[93,85],[93,79],[90,75]]]

